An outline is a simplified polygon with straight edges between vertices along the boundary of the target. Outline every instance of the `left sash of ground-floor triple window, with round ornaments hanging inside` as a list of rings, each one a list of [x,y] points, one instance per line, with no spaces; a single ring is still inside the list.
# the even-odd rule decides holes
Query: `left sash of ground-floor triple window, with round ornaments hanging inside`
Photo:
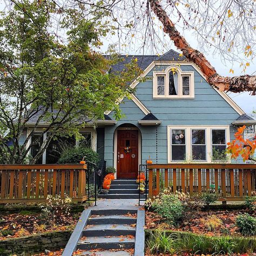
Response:
[[[185,130],[172,130],[171,147],[172,160],[184,161],[186,160],[186,138]]]

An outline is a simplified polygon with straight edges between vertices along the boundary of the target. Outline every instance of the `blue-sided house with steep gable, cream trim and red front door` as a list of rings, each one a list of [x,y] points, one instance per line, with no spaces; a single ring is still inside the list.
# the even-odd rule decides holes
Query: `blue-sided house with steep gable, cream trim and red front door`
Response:
[[[226,144],[234,138],[237,126],[256,123],[178,52],[123,58],[112,71],[122,71],[125,63],[137,58],[145,77],[143,82],[131,84],[136,88],[131,99],[122,100],[120,109],[125,117],[116,121],[109,112],[105,120],[91,122],[81,131],[106,165],[116,167],[118,178],[135,178],[139,165],[149,157],[159,164],[223,161]],[[57,141],[53,141],[42,163],[56,162],[57,158],[51,157],[56,147]],[[32,154],[33,150],[35,146]]]

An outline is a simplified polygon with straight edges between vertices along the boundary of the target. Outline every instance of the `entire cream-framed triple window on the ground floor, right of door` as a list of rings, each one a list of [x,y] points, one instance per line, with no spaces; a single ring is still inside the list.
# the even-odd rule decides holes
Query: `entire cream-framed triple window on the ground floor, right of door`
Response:
[[[228,126],[168,126],[168,163],[227,161]]]

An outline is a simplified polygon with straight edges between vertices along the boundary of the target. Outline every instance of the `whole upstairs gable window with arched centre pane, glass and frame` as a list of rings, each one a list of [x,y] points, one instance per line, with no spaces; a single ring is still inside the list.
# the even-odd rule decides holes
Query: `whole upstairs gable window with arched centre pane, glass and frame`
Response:
[[[194,72],[171,65],[164,71],[153,71],[153,98],[194,98]]]

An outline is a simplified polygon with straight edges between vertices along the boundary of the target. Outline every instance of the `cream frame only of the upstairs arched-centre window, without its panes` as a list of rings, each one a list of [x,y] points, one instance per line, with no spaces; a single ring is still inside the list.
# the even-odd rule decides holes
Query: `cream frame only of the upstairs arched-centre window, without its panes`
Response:
[[[169,73],[175,70],[178,74],[178,95],[169,95]],[[157,89],[157,77],[164,76],[165,77],[165,95],[158,95]],[[183,95],[183,83],[182,77],[188,76],[190,77],[190,94]],[[183,99],[183,98],[194,98],[194,72],[193,71],[182,71],[179,66],[171,65],[165,71],[153,71],[153,98],[162,98],[162,99]]]

